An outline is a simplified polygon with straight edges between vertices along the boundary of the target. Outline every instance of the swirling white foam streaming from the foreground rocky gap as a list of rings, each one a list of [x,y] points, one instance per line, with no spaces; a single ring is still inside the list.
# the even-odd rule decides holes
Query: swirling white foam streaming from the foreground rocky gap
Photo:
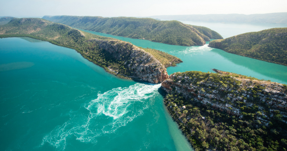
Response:
[[[85,104],[89,113],[73,111],[71,117],[62,126],[57,126],[43,140],[57,149],[66,148],[66,138],[74,135],[77,140],[86,143],[96,143],[97,137],[114,133],[119,127],[127,125],[148,108],[148,98],[158,94],[161,84],[150,85],[136,83],[129,87],[118,87]]]

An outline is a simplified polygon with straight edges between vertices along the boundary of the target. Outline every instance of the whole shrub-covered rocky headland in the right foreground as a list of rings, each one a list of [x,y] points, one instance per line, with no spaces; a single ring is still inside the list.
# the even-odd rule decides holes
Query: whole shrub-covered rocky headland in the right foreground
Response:
[[[286,150],[287,86],[235,73],[173,73],[164,104],[196,150]]]

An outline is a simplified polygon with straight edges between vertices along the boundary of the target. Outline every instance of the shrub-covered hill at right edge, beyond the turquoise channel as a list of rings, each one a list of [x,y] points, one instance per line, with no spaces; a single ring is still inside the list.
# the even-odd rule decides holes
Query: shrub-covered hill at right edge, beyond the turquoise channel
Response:
[[[208,46],[232,54],[287,65],[286,41],[287,28],[272,28],[223,40],[212,40]]]

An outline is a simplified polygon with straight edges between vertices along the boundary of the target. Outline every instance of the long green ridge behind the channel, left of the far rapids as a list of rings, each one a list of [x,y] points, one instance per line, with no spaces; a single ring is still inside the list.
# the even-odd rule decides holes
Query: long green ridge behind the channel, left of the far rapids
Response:
[[[210,41],[210,39],[222,39],[221,35],[209,28],[193,27],[179,21],[91,16],[44,16],[43,19],[85,30],[135,39],[146,39],[170,45],[204,45],[205,41]],[[200,30],[197,30],[197,28],[200,28]],[[206,33],[207,35],[205,35]]]

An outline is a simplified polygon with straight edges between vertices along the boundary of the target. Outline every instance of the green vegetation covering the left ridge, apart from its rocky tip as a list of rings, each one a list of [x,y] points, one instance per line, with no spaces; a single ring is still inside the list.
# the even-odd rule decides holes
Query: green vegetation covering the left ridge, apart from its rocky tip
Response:
[[[115,74],[121,78],[134,76],[134,70],[127,67],[128,64],[126,63],[126,60],[134,59],[130,56],[131,52],[138,48],[128,42],[93,35],[40,18],[15,18],[8,24],[0,26],[0,38],[5,37],[30,37],[48,41],[55,45],[72,48],[86,59],[105,68],[109,73]],[[108,45],[114,45],[119,50],[125,50],[125,53],[117,54],[119,58],[115,57],[114,54],[100,47],[100,44],[105,41]],[[167,61],[171,64],[177,63],[174,62],[174,60],[178,60],[175,59],[176,57],[162,53],[158,50],[154,50],[153,52],[160,60],[164,61],[163,64],[166,64]],[[144,50],[140,51],[139,56],[144,53],[146,53]],[[109,68],[117,72],[115,73]]]

